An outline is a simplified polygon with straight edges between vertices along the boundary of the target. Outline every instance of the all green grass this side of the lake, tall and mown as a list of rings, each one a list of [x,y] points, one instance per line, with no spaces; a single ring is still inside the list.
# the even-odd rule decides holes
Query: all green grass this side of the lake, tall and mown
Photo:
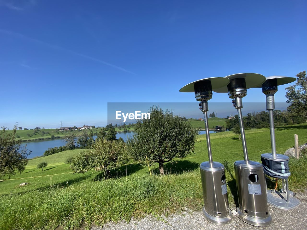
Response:
[[[306,131],[307,123],[277,127],[277,152],[284,153],[293,147],[294,134],[298,134],[299,144],[306,143]],[[213,160],[229,166],[225,173],[230,206],[234,208],[237,197],[235,178],[232,177],[233,162],[243,159],[242,143],[232,132],[212,133],[210,136]],[[251,160],[260,161],[261,153],[270,152],[269,128],[246,130],[246,140]],[[22,174],[11,177],[17,180],[0,182],[0,228],[79,228],[84,224],[129,220],[132,216],[146,214],[156,216],[203,205],[199,164],[208,160],[205,135],[197,137],[195,154],[166,163],[167,175],[163,177],[155,174],[157,165],[151,166],[154,173],[151,178],[148,167],[140,164],[122,166],[112,172],[115,178],[103,181],[99,180],[99,172],[94,170],[72,174],[64,161],[79,152],[70,150],[32,159]],[[49,163],[44,171],[35,167],[41,161]],[[306,187],[306,167],[306,156],[299,160],[290,159],[291,190]],[[25,177],[30,178],[18,179]],[[29,184],[20,187],[21,182]]]

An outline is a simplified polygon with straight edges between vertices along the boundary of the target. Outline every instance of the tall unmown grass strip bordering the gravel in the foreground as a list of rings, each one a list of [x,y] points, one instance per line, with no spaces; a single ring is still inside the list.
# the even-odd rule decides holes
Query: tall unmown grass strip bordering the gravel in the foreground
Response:
[[[233,162],[224,161],[230,207],[237,204]],[[290,189],[307,182],[307,158],[290,159]],[[137,175],[2,196],[0,229],[64,229],[180,212],[203,205],[200,172]]]

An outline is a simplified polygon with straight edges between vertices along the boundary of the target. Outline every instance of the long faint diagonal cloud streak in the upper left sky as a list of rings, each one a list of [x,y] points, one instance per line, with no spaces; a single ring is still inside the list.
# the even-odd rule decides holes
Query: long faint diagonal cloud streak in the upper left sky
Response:
[[[121,70],[121,71],[124,71],[124,72],[130,73],[130,74],[136,75],[134,72],[131,72],[131,71],[126,70],[126,69],[124,69],[124,68],[122,68],[122,67],[113,65],[113,64],[111,64],[111,63],[105,62],[105,61],[103,61],[103,60],[100,60],[100,59],[97,59],[97,58],[94,58],[94,57],[91,57],[91,56],[87,56],[87,55],[85,55],[85,54],[81,54],[81,53],[78,53],[78,52],[75,52],[75,51],[72,51],[72,50],[69,50],[69,49],[60,47],[60,46],[58,46],[58,45],[49,44],[49,43],[47,43],[47,42],[44,42],[44,41],[41,41],[41,40],[37,40],[37,39],[35,39],[35,38],[31,38],[31,37],[28,37],[28,36],[25,36],[25,35],[23,35],[23,34],[21,34],[21,33],[15,33],[15,32],[9,31],[9,30],[5,30],[5,29],[0,29],[0,33],[9,34],[9,35],[17,36],[17,37],[21,37],[21,38],[23,38],[23,39],[25,39],[25,40],[29,40],[29,41],[32,41],[32,42],[35,42],[35,43],[38,43],[38,44],[43,44],[43,45],[45,45],[45,46],[48,46],[49,48],[62,50],[62,51],[71,53],[71,54],[73,54],[73,55],[80,56],[80,57],[83,57],[83,58],[86,58],[86,59],[89,59],[89,60],[92,60],[92,61],[95,61],[95,62],[104,64],[104,65],[107,65],[107,66],[110,66],[110,67],[113,67],[113,68],[116,68],[116,69],[119,69],[119,70]]]

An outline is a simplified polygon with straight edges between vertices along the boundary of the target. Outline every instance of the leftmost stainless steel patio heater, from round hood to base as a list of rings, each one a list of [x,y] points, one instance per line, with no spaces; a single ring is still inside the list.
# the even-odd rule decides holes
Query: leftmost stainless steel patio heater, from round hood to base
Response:
[[[232,221],[232,212],[228,205],[225,168],[223,164],[212,160],[208,125],[208,100],[212,98],[212,89],[227,86],[227,78],[213,77],[192,82],[182,87],[180,92],[194,92],[195,98],[204,113],[209,161],[200,164],[200,176],[203,188],[203,214],[206,220],[214,224],[225,225]]]

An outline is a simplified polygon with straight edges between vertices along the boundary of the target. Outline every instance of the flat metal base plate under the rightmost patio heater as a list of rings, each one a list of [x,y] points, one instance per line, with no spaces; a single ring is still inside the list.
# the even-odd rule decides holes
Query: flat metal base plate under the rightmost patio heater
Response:
[[[281,192],[277,190],[275,190],[275,193],[272,193],[271,190],[266,191],[268,203],[276,208],[284,210],[294,209],[301,204],[301,201],[293,197],[293,192],[289,191],[289,194],[289,202],[287,202]]]

